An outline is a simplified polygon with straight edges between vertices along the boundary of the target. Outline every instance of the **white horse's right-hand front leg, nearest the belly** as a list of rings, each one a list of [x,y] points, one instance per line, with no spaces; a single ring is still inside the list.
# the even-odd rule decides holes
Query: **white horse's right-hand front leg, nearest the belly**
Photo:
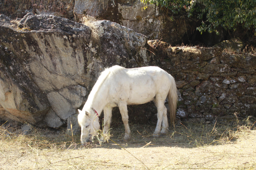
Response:
[[[125,134],[124,134],[124,140],[128,140],[131,138],[131,130],[128,124],[128,110],[127,110],[127,103],[124,101],[121,101],[118,104],[119,111],[122,116],[122,121],[124,123],[124,128],[125,128]]]

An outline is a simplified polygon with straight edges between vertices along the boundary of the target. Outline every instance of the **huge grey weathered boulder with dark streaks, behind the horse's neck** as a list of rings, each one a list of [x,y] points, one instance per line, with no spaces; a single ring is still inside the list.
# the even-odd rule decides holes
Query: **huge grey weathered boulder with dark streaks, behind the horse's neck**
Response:
[[[68,19],[29,13],[16,23],[0,15],[1,118],[59,127],[85,103],[104,67],[148,64],[145,36],[98,22],[94,45],[90,29]]]

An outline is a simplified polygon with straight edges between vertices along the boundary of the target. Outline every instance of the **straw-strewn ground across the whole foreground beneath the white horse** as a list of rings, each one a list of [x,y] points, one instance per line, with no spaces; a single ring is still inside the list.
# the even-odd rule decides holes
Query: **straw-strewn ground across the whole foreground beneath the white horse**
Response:
[[[254,121],[183,122],[158,138],[153,126],[131,125],[128,142],[123,126],[115,126],[109,143],[87,147],[65,131],[35,128],[22,135],[6,123],[0,128],[0,169],[255,169]]]

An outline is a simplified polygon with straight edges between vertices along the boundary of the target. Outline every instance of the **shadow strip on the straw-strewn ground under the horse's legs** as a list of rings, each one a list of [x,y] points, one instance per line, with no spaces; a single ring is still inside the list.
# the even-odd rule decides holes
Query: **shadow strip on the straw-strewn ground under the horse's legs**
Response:
[[[111,138],[101,145],[94,141],[92,147],[102,148],[140,148],[140,147],[180,147],[193,148],[199,146],[209,146],[218,144],[230,144],[236,142],[237,138],[230,136],[228,127],[222,124],[195,124],[191,122],[181,122],[170,128],[168,133],[154,136],[154,125],[131,124],[132,137],[124,140],[124,127],[113,127],[110,130]],[[222,129],[221,129],[222,127]],[[229,127],[232,128],[232,127]]]

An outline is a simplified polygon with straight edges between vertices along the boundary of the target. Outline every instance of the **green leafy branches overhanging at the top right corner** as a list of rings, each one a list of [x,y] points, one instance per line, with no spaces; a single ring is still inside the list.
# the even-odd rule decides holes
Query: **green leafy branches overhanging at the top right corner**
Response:
[[[202,24],[197,28],[201,34],[205,31],[216,32],[218,27],[235,31],[238,25],[244,29],[253,29],[256,35],[256,0],[141,0],[147,4],[169,9],[173,14],[185,11],[188,17],[197,16]],[[146,6],[144,9],[146,9]]]

